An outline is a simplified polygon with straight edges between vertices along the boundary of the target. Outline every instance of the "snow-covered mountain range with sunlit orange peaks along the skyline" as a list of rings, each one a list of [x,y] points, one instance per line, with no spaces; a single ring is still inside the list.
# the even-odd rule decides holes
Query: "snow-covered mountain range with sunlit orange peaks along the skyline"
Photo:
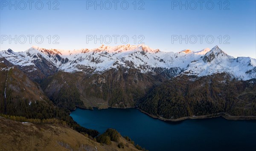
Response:
[[[233,78],[248,80],[256,77],[256,59],[234,58],[218,46],[198,52],[189,49],[181,52],[161,52],[145,45],[100,46],[96,49],[65,51],[44,49],[33,46],[24,52],[12,49],[0,52],[17,65],[30,78],[41,81],[58,71],[68,73],[104,73],[110,69],[134,69],[140,73],[157,74],[165,72],[169,76],[207,76],[227,73]],[[127,71],[124,71],[127,72]]]

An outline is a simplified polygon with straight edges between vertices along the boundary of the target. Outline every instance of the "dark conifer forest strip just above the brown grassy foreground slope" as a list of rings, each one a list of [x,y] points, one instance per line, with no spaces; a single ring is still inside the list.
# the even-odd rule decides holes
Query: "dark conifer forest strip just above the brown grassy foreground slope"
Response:
[[[59,119],[65,121],[67,126],[73,128],[78,132],[84,132],[90,136],[97,136],[99,134],[96,130],[87,129],[81,127],[77,124],[71,116],[69,116],[69,110],[65,110],[63,108],[56,107],[52,102],[42,102],[42,101],[33,101],[29,105],[28,100],[18,100],[18,101],[10,101],[12,97],[8,97],[7,99],[7,115],[10,116],[22,116],[27,119]],[[2,104],[2,102],[1,102]],[[1,112],[3,113],[3,112]],[[26,121],[24,121],[26,122]]]

